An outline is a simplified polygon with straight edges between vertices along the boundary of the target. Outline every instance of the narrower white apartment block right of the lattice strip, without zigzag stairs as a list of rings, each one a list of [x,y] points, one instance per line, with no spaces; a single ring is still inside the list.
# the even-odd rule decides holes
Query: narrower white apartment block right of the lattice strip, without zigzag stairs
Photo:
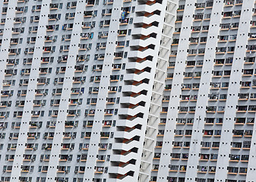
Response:
[[[150,181],[256,180],[253,0],[179,1]]]

